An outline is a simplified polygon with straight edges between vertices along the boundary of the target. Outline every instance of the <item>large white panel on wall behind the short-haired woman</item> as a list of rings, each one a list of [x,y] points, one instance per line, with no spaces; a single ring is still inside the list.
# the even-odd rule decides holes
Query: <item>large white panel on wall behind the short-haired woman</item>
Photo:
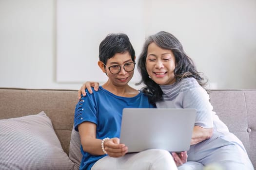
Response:
[[[138,56],[144,20],[144,0],[57,0],[57,82],[106,81],[97,64],[99,43],[124,33]],[[132,82],[139,81],[135,71]]]

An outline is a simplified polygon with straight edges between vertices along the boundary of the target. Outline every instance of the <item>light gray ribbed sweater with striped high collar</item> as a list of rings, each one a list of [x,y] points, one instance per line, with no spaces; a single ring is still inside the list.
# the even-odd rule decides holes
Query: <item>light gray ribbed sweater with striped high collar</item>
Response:
[[[209,102],[209,95],[194,78],[183,78],[172,85],[160,85],[163,102],[157,102],[158,108],[194,108],[197,109],[195,125],[213,128],[213,136],[197,145],[210,143],[217,137],[238,142],[239,139],[229,132],[228,127],[218,118]],[[238,140],[238,141],[237,141]]]

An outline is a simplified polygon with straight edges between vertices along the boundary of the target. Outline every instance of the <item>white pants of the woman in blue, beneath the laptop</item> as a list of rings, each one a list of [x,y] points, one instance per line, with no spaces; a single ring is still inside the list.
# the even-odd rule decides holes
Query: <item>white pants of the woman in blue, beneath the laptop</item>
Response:
[[[177,170],[177,166],[168,151],[151,149],[119,158],[105,156],[91,170]]]

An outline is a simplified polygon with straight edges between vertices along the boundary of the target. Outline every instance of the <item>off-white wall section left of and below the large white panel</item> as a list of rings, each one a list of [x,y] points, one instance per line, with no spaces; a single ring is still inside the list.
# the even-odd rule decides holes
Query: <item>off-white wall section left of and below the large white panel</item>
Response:
[[[0,0],[0,86],[78,89],[56,83],[55,0]]]

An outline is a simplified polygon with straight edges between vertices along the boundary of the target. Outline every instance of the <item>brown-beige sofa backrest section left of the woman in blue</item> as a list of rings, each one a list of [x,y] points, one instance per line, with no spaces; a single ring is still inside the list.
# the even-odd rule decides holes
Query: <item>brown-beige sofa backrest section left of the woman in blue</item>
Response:
[[[65,153],[69,154],[77,90],[0,88],[0,119],[38,114],[51,119]]]

